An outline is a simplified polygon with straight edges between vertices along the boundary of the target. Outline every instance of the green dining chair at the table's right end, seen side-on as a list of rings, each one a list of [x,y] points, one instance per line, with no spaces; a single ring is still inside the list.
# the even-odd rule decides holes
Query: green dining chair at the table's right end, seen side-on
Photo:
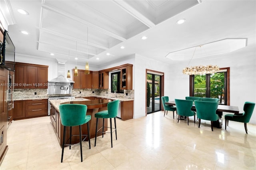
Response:
[[[255,103],[246,101],[244,103],[244,113],[238,113],[238,114],[227,114],[225,115],[225,130],[227,128],[226,125],[228,125],[228,121],[236,121],[236,122],[242,122],[244,123],[244,129],[246,134],[247,132],[247,123],[249,123],[252,113],[255,107]]]

